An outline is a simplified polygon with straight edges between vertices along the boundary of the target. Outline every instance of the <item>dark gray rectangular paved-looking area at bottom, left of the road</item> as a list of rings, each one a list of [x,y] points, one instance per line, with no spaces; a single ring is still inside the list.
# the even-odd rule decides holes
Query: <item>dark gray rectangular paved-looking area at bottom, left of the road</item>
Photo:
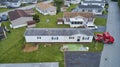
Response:
[[[101,52],[65,52],[65,67],[99,67]]]

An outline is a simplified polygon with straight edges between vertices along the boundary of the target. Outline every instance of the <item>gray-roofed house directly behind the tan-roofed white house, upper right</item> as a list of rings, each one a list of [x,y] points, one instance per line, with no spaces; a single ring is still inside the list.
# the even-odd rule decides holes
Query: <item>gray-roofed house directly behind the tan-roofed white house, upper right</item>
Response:
[[[78,5],[72,12],[92,12],[96,15],[102,15],[104,8],[98,5]]]

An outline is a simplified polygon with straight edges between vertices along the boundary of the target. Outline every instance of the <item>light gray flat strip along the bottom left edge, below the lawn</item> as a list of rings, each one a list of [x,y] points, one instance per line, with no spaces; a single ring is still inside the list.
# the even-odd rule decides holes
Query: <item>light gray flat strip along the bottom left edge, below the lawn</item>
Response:
[[[58,62],[0,64],[0,67],[59,67]]]

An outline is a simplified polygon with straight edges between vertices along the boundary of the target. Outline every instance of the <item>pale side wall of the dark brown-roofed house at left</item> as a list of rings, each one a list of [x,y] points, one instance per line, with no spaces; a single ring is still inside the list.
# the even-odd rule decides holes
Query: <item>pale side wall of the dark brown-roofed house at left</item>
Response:
[[[23,26],[27,26],[27,21],[32,21],[32,17],[21,17],[16,20],[11,21],[11,25],[13,28],[19,28]]]

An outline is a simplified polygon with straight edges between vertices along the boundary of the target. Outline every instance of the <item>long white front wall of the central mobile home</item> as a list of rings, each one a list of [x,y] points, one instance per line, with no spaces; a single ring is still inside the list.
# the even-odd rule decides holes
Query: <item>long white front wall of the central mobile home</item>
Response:
[[[78,42],[77,36],[80,36],[79,42],[92,42],[93,36],[84,36],[89,37],[89,40],[82,40],[82,35],[73,35],[74,39],[69,39],[71,36],[25,36],[26,42]],[[41,39],[37,39],[41,37]],[[52,37],[58,37],[58,40],[52,40]]]

